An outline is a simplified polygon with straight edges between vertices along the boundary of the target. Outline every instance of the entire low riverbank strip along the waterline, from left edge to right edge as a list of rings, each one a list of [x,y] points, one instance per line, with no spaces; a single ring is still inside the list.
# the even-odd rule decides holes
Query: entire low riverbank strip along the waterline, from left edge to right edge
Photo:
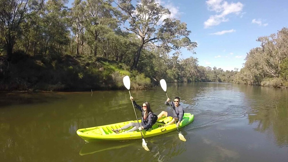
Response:
[[[148,65],[146,65],[148,66]],[[183,65],[182,65],[183,66]],[[129,75],[131,89],[149,89],[157,86],[160,79],[169,82],[223,82],[287,88],[288,83],[281,78],[265,78],[251,81],[243,70],[223,71],[196,66],[197,71],[190,77],[181,77],[177,68],[151,68],[130,70],[130,66],[115,60],[79,55],[36,55],[23,52],[14,53],[9,59],[0,56],[0,91],[4,92],[74,92],[126,89],[123,77]],[[151,72],[155,71],[155,72]],[[188,70],[189,71],[189,70]],[[244,77],[243,77],[244,76]],[[246,79],[245,79],[246,78]]]

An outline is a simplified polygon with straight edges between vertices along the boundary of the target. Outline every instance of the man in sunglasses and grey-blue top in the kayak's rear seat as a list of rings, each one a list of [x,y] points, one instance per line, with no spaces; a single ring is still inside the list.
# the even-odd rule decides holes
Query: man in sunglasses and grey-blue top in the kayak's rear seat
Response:
[[[167,98],[167,100],[165,101],[165,105],[169,105],[170,102],[170,98]],[[174,102],[170,102],[171,106],[172,106],[172,113],[174,114],[175,118],[173,118],[169,123],[165,124],[169,125],[169,124],[173,124],[176,120],[177,124],[176,127],[179,126],[183,115],[184,115],[184,110],[183,107],[179,104],[180,102],[180,98],[179,97],[175,97]],[[170,112],[166,112],[166,111],[162,111],[159,115],[158,115],[158,119],[160,119],[163,115],[165,117],[173,117],[173,114],[171,114]]]

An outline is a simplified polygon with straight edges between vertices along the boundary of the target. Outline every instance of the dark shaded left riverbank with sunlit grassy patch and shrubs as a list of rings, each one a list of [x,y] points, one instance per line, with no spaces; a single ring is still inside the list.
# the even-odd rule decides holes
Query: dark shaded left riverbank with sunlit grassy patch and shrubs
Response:
[[[123,63],[92,56],[0,56],[0,91],[87,91],[124,89],[122,78],[131,77],[131,89],[152,87],[151,80]]]

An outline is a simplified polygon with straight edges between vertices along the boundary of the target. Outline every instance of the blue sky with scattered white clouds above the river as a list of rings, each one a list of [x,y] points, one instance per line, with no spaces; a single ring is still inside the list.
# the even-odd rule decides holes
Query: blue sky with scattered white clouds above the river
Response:
[[[70,0],[71,4],[73,0]],[[250,49],[259,47],[258,37],[288,27],[287,0],[156,0],[168,8],[191,31],[198,47],[181,58],[198,58],[201,66],[239,70]],[[68,5],[68,7],[70,7]]]

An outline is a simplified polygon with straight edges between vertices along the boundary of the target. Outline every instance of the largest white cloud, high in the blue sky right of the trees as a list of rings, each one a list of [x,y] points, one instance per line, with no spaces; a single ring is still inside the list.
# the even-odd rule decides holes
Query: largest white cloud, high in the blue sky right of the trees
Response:
[[[232,13],[238,15],[243,8],[243,4],[240,2],[228,3],[227,1],[223,0],[208,0],[206,1],[206,4],[208,5],[208,9],[210,11],[215,11],[219,14],[211,15],[209,19],[204,22],[204,28],[209,28],[210,26],[219,25],[221,22],[229,21],[229,19],[225,18],[225,16]]]

